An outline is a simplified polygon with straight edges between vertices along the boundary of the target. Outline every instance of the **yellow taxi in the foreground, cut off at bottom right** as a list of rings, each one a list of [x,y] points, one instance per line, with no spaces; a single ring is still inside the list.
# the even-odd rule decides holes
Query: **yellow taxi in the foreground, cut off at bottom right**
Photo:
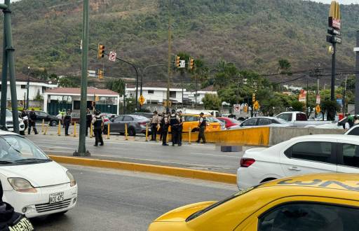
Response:
[[[358,217],[359,174],[311,174],[174,209],[151,223],[149,231],[354,231]]]

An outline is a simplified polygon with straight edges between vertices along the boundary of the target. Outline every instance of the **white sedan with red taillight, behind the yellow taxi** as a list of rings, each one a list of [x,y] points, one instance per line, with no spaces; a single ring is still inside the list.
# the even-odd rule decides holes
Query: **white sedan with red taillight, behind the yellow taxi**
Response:
[[[359,173],[359,137],[319,134],[245,151],[237,186],[243,189],[273,179],[326,172]]]

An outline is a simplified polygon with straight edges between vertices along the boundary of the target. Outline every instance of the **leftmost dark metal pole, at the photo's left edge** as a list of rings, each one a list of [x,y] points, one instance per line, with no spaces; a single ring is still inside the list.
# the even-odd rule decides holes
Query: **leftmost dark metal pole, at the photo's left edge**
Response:
[[[6,29],[4,22],[4,45],[3,45],[3,68],[1,75],[1,110],[0,110],[0,125],[6,126],[6,106],[8,94],[8,52],[6,52]]]

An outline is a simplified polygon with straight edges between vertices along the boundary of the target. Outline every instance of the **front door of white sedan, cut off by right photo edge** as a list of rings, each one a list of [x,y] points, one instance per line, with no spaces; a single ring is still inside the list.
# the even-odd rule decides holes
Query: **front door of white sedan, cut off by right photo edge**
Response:
[[[338,141],[338,172],[359,173],[359,144],[354,141]]]

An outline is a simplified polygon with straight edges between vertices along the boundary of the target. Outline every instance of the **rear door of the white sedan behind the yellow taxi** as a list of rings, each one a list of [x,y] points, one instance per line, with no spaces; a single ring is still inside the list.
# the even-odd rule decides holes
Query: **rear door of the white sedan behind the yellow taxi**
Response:
[[[280,151],[280,165],[285,176],[337,172],[337,141],[297,139]]]

